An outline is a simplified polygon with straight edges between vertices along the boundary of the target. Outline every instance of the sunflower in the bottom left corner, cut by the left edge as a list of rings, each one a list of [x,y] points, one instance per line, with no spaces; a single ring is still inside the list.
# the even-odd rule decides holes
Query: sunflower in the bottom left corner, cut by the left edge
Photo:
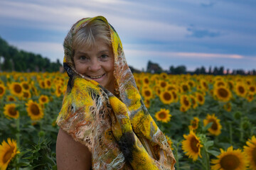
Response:
[[[10,138],[3,141],[0,145],[0,169],[5,170],[11,159],[15,157],[16,154],[20,153],[17,149],[17,143],[15,140]]]

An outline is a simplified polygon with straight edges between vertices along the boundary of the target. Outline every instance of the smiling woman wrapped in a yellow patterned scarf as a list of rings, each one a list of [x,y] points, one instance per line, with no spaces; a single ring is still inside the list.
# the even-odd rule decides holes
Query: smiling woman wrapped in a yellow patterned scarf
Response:
[[[58,169],[174,169],[106,18],[83,18],[64,42],[70,77],[57,123]]]

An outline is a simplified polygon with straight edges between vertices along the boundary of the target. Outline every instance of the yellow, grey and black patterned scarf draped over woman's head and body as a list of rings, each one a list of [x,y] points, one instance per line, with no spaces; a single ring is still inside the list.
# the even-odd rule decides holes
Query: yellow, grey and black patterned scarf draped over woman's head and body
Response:
[[[110,28],[115,93],[75,71],[75,33],[92,20]],[[146,110],[124,57],[122,42],[106,18],[83,18],[64,41],[63,66],[70,77],[57,123],[92,153],[92,169],[174,169],[175,159],[163,132]]]

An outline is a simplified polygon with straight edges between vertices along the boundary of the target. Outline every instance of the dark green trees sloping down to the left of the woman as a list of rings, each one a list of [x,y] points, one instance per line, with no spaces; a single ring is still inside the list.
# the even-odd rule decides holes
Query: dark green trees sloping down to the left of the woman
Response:
[[[33,52],[18,50],[0,37],[0,71],[1,72],[57,72],[60,61],[50,62],[46,57]]]

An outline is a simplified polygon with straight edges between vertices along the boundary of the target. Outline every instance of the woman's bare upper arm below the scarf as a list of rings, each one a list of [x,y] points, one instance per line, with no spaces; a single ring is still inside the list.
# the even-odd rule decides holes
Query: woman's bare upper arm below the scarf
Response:
[[[89,149],[60,128],[56,142],[56,159],[58,170],[90,170],[92,155]]]

